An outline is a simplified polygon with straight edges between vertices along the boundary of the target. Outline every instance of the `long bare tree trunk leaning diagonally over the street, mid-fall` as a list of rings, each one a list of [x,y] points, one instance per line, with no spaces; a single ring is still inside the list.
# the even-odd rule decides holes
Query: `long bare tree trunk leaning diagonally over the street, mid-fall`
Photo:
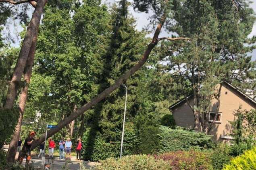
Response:
[[[69,117],[66,117],[63,121],[60,121],[58,123],[58,128],[49,130],[48,134],[47,134],[47,138],[52,136],[53,134],[56,134],[63,127],[67,126],[71,121],[76,119],[79,115],[85,113],[85,111],[87,111],[88,109],[90,109],[91,107],[96,105],[98,102],[100,102],[102,99],[104,99],[107,95],[112,93],[115,89],[119,88],[122,83],[124,83],[131,75],[133,75],[137,70],[139,70],[142,67],[142,65],[144,65],[144,63],[148,59],[148,56],[150,55],[150,52],[152,51],[152,49],[158,43],[158,35],[160,33],[162,25],[165,22],[165,19],[166,19],[166,16],[164,15],[161,18],[160,23],[157,25],[156,31],[155,31],[154,36],[152,38],[152,41],[150,42],[146,51],[144,52],[144,55],[142,56],[142,59],[140,59],[138,61],[138,63],[135,66],[133,66],[131,69],[129,69],[121,78],[119,78],[117,81],[115,81],[115,83],[113,85],[111,85],[110,87],[105,89],[102,93],[100,93],[99,95],[94,97],[91,101],[89,101],[89,103],[86,103],[85,105],[83,105],[82,107],[77,109],[77,111],[72,113]],[[40,136],[39,140],[36,140],[35,142],[33,142],[32,149],[37,147],[44,140],[45,140],[45,134],[42,134],[42,136]]]

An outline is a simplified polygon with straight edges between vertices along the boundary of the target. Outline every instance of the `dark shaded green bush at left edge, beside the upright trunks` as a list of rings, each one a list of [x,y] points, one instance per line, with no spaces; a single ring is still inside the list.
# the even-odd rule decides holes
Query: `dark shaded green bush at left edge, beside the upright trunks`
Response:
[[[18,118],[18,109],[0,109],[0,149],[13,134]]]

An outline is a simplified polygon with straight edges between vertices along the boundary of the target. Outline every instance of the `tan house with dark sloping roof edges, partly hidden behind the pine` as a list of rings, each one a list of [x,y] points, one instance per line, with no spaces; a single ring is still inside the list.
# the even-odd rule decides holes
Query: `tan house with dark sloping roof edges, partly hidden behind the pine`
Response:
[[[189,103],[193,105],[193,95],[187,97]],[[210,112],[208,114],[208,123],[212,122],[212,119],[216,113],[217,99],[212,99],[210,105]],[[239,109],[241,105],[242,110],[256,109],[256,101],[239,91],[229,83],[223,83],[221,88],[220,108],[219,115],[209,132],[213,135],[214,141],[229,142],[233,138],[230,136],[233,134],[232,125],[230,121],[235,120],[234,112]],[[170,106],[170,110],[173,113],[176,125],[182,127],[188,127],[192,129],[194,127],[194,114],[187,104],[187,100],[184,98],[177,103]]]

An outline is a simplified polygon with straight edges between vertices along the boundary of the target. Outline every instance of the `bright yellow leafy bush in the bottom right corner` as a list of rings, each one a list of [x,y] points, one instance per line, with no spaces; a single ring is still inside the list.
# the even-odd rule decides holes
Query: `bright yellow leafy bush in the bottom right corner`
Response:
[[[244,154],[233,158],[230,164],[225,165],[223,170],[255,170],[256,169],[256,147],[246,151]]]

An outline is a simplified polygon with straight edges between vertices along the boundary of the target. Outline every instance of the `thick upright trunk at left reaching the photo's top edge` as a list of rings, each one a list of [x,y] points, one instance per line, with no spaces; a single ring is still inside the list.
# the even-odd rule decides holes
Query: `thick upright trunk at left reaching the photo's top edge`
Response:
[[[17,97],[19,83],[21,81],[21,77],[23,75],[23,71],[27,62],[29,51],[31,49],[33,37],[34,36],[37,37],[40,19],[41,19],[42,12],[44,10],[44,6],[46,2],[47,0],[40,0],[37,2],[32,18],[29,22],[29,25],[27,26],[27,32],[21,46],[19,58],[16,63],[15,70],[13,72],[8,93],[6,96],[6,102],[4,104],[5,109],[11,109]]]

